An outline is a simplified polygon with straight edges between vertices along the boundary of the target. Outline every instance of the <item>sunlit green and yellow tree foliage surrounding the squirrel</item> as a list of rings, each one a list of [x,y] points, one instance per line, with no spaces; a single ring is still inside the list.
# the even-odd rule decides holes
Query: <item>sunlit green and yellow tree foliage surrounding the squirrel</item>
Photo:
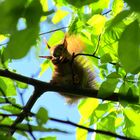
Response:
[[[27,56],[32,47],[38,48],[42,23],[47,22],[57,26],[68,18],[69,23],[64,28],[67,28],[70,34],[82,36],[86,44],[83,53],[90,55],[86,57],[98,71],[100,79],[98,97],[104,99],[101,101],[87,98],[80,102],[79,125],[94,126],[97,130],[114,134],[121,132],[123,136],[140,139],[140,1],[53,0],[53,3],[56,10],[49,11],[47,0],[0,1],[0,70],[16,73],[16,70],[10,69],[9,64],[15,59],[20,60]],[[24,24],[22,29],[19,28],[21,20]],[[54,33],[48,40],[50,45],[59,44],[64,38],[63,31],[55,31],[52,31]],[[53,69],[47,60],[41,64],[40,75],[48,68]],[[67,133],[44,126],[49,119],[45,108],[40,108],[36,114],[30,112],[30,109],[26,112],[27,108],[16,102],[16,95],[19,94],[19,88],[28,90],[29,83],[22,81],[22,78],[19,81],[12,79],[12,77],[11,79],[3,77],[0,72],[1,139],[15,139],[10,132],[19,133],[27,138],[29,138],[27,133],[34,138],[32,134],[34,131]],[[117,102],[106,100],[114,94],[122,95],[125,99],[119,98]],[[22,110],[23,119],[28,123],[12,125],[15,123],[13,117],[21,116]],[[36,118],[37,125],[30,124],[32,120],[27,116]],[[94,139],[116,139],[109,133],[102,134],[97,132]],[[87,130],[77,126],[77,140],[81,140],[81,136],[84,140],[87,135]]]

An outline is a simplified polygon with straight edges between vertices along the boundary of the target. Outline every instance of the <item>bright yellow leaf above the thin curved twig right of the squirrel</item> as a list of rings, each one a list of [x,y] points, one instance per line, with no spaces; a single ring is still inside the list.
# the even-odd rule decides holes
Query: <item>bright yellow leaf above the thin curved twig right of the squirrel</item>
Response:
[[[101,34],[101,32],[103,31],[105,22],[106,22],[106,17],[99,14],[92,16],[87,21],[89,25],[93,26],[92,31],[95,35]]]

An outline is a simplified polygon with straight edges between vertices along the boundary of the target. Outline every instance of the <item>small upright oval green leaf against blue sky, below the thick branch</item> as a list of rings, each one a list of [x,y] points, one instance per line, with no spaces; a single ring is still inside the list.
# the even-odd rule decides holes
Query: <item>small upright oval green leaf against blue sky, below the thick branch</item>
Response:
[[[39,125],[45,124],[48,121],[48,111],[41,107],[36,114],[36,118]]]

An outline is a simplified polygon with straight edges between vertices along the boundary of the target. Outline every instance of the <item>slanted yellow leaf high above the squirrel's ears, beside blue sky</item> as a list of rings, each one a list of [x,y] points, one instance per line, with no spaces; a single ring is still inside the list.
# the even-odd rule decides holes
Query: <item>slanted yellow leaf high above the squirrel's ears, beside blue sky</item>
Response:
[[[57,10],[52,18],[52,22],[54,24],[59,23],[64,17],[66,17],[68,15],[68,11],[64,11],[64,10]]]

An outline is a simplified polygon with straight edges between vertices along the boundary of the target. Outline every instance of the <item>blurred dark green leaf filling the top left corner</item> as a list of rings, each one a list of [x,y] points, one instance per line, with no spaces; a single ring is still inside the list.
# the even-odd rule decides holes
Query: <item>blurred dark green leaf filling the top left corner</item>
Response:
[[[25,10],[26,0],[0,1],[0,33],[8,34],[16,30],[18,19]]]

